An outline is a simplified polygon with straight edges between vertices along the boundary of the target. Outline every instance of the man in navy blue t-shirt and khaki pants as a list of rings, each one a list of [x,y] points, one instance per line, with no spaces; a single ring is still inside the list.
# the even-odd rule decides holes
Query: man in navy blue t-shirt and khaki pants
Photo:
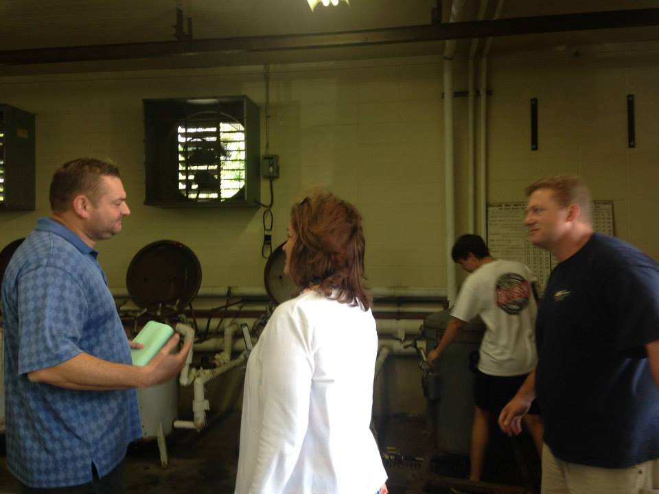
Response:
[[[531,241],[559,264],[537,314],[537,366],[500,426],[518,434],[537,396],[543,494],[659,489],[657,263],[594,233],[579,178],[539,180],[527,196]]]

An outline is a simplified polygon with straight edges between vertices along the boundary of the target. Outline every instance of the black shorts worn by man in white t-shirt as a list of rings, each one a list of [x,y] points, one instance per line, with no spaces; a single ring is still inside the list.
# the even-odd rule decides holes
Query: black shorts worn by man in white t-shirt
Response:
[[[476,369],[474,381],[474,403],[481,410],[491,412],[498,417],[502,408],[517,394],[528,374],[518,376],[493,376]],[[531,403],[529,414],[539,415],[537,401]]]

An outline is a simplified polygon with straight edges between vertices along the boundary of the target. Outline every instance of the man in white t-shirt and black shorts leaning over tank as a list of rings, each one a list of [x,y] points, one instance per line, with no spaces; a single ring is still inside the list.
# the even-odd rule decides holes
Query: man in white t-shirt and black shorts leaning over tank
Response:
[[[471,273],[451,309],[451,318],[437,347],[428,353],[432,364],[476,316],[485,322],[474,384],[474,423],[470,480],[481,480],[490,423],[516,394],[537,360],[535,353],[535,277],[516,261],[494,259],[478,235],[462,235],[451,256]],[[538,454],[542,451],[542,421],[537,404],[524,416]]]

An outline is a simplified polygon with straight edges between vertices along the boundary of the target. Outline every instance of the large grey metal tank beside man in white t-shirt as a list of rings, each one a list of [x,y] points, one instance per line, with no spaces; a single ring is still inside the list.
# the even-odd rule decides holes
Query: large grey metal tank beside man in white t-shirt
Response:
[[[430,314],[424,320],[421,329],[428,351],[441,340],[449,320],[448,310]],[[428,414],[439,451],[469,454],[474,420],[474,372],[483,333],[485,325],[480,318],[470,321],[441,353],[426,377]]]

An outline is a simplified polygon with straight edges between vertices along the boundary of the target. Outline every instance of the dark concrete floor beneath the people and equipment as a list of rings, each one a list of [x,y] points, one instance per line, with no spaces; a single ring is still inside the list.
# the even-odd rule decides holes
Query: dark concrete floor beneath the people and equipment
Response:
[[[391,494],[405,494],[407,487],[421,475],[421,462],[426,454],[426,419],[418,416],[393,416],[376,421],[382,450],[395,451],[396,459],[385,460]],[[203,432],[176,430],[167,437],[169,465],[163,469],[155,441],[130,445],[126,456],[126,493],[160,494],[233,494],[238,466],[240,411],[213,419]],[[18,493],[16,480],[5,467],[4,440],[0,442],[0,494]],[[539,482],[537,460],[532,445],[524,446],[524,456],[531,458],[533,483]],[[537,458],[537,456],[536,456]],[[467,458],[450,461],[435,458],[430,462],[433,473],[465,478]],[[522,484],[514,460],[503,458],[489,462],[483,480],[505,484]],[[448,491],[446,491],[448,492]],[[437,492],[439,494],[439,491]]]

